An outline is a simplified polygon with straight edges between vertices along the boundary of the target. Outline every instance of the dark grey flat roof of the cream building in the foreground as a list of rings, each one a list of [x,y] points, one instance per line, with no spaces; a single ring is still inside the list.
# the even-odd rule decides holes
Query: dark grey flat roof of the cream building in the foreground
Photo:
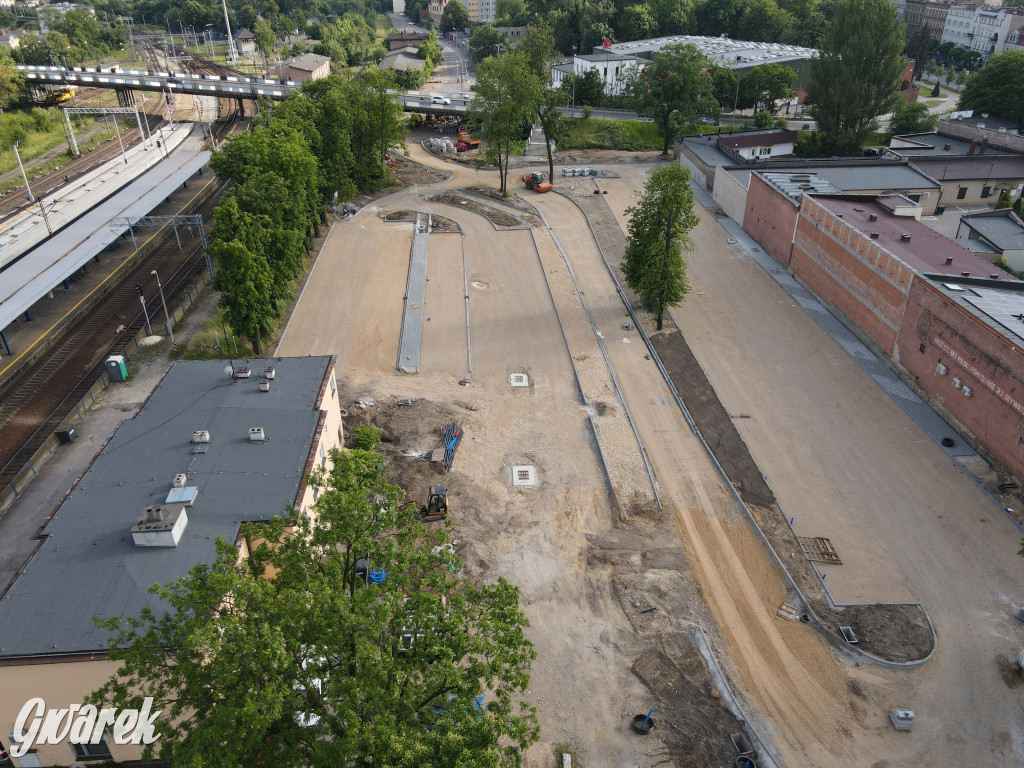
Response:
[[[276,376],[261,392],[267,364]],[[151,585],[213,562],[217,537],[233,543],[241,522],[283,513],[303,479],[330,364],[254,360],[252,378],[232,382],[224,360],[175,362],[93,461],[0,600],[0,657],[101,652],[109,634],[96,629],[94,615],[132,616],[144,606],[159,615]],[[251,427],[262,427],[266,440],[251,442]],[[204,429],[210,442],[191,442]],[[199,489],[178,545],[135,546],[132,525],[144,506],[164,503],[177,473]]]

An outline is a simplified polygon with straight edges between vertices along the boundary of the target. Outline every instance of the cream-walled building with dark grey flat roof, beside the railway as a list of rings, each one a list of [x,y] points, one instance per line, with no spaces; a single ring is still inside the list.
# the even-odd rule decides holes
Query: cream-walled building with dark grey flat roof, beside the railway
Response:
[[[264,366],[266,367],[264,372]],[[79,705],[116,670],[94,615],[158,615],[154,584],[213,563],[241,525],[308,511],[308,481],[342,445],[334,357],[175,362],[124,422],[41,531],[0,601],[0,733],[25,702]],[[16,765],[137,760],[141,746],[37,744]]]

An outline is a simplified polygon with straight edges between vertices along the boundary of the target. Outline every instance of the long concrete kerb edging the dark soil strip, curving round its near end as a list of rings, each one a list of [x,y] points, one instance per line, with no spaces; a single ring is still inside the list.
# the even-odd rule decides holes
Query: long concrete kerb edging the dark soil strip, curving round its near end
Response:
[[[558,194],[559,195],[563,195],[562,193],[558,193]],[[780,558],[778,556],[778,553],[775,551],[775,548],[771,546],[771,542],[768,541],[768,537],[766,537],[765,532],[761,529],[761,526],[758,524],[757,519],[754,517],[754,513],[751,512],[750,508],[746,506],[746,503],[743,502],[743,500],[740,498],[739,492],[736,490],[736,486],[732,484],[732,481],[729,479],[729,476],[726,474],[725,469],[719,463],[718,458],[715,456],[715,453],[711,450],[711,445],[708,443],[708,440],[705,439],[703,434],[701,434],[700,430],[696,426],[696,423],[693,421],[693,417],[690,415],[689,410],[686,408],[686,403],[683,402],[682,397],[679,395],[679,391],[676,389],[675,384],[673,384],[673,382],[672,382],[672,377],[669,376],[669,372],[666,370],[665,365],[662,362],[662,358],[658,356],[657,351],[654,349],[654,345],[651,343],[650,339],[647,336],[646,331],[644,331],[643,326],[640,324],[640,321],[637,317],[637,314],[636,314],[636,311],[633,308],[633,305],[626,298],[626,295],[623,292],[622,286],[618,283],[618,278],[615,275],[614,270],[611,268],[611,265],[608,263],[608,259],[605,256],[604,249],[601,248],[601,244],[597,240],[597,232],[594,230],[594,225],[591,222],[590,217],[587,215],[587,212],[583,209],[583,207],[579,203],[577,203],[577,201],[572,200],[572,198],[568,197],[567,195],[563,195],[563,197],[565,197],[567,200],[572,201],[572,203],[575,205],[575,207],[579,208],[580,212],[584,215],[584,218],[587,219],[587,225],[590,227],[591,236],[594,238],[594,242],[597,244],[597,249],[598,249],[598,252],[601,254],[602,260],[604,261],[605,268],[607,268],[608,273],[611,274],[611,279],[615,283],[615,287],[616,287],[616,291],[618,293],[618,296],[622,299],[623,303],[626,305],[626,308],[629,310],[630,316],[633,317],[633,321],[636,324],[637,330],[640,332],[641,338],[644,340],[644,343],[647,345],[647,349],[650,351],[651,359],[654,360],[655,365],[657,366],[658,371],[662,373],[662,377],[665,379],[666,384],[668,384],[669,391],[672,392],[672,396],[675,399],[676,404],[679,407],[680,411],[682,411],[683,417],[686,419],[686,423],[689,424],[690,425],[690,429],[693,430],[693,434],[695,434],[697,436],[697,439],[700,440],[700,444],[703,446],[705,453],[708,454],[708,457],[711,459],[711,461],[715,465],[716,469],[718,469],[718,473],[722,477],[722,481],[725,483],[726,487],[729,488],[729,493],[731,494],[732,498],[735,500],[735,502],[739,506],[739,508],[743,511],[743,515],[746,517],[746,520],[750,523],[751,527],[753,528],[754,532],[757,535],[757,537],[764,544],[764,546],[768,550],[768,552],[771,553],[772,560],[775,562],[775,566],[782,573],[785,583],[788,585],[788,587],[793,591],[793,593],[796,594],[797,597],[800,599],[800,602],[803,605],[804,610],[807,611],[807,614],[808,614],[808,616],[811,620],[811,626],[813,626],[819,633],[821,633],[825,637],[825,639],[829,642],[829,644],[831,644],[834,647],[836,647],[836,648],[838,648],[838,649],[840,649],[842,651],[848,652],[851,655],[853,655],[853,656],[855,656],[855,657],[857,657],[857,658],[859,658],[861,660],[867,662],[868,664],[872,664],[872,665],[878,666],[878,667],[884,667],[884,668],[893,669],[893,670],[912,670],[912,669],[916,669],[918,667],[921,667],[925,663],[929,662],[935,655],[935,651],[938,648],[938,636],[935,633],[935,627],[932,625],[931,616],[928,615],[928,611],[925,610],[925,607],[921,603],[902,603],[904,605],[916,605],[916,606],[919,606],[921,608],[921,611],[925,614],[925,618],[928,621],[929,629],[932,632],[932,650],[931,650],[931,652],[927,656],[925,656],[924,658],[920,658],[920,659],[916,659],[916,660],[913,660],[913,662],[887,662],[884,658],[879,658],[878,656],[873,656],[870,653],[862,651],[859,648],[856,648],[856,647],[854,647],[852,645],[849,645],[848,643],[844,642],[843,644],[840,644],[839,638],[837,636],[835,636],[831,632],[829,632],[824,627],[824,625],[821,624],[821,620],[818,618],[817,613],[814,612],[814,609],[811,607],[811,604],[808,601],[807,597],[804,595],[803,591],[800,589],[800,587],[797,586],[797,582],[794,580],[793,575],[790,573],[788,569],[785,567],[785,564],[782,562],[782,558]],[[777,501],[776,501],[776,504],[778,504]],[[781,506],[779,506],[779,511],[782,511]],[[783,516],[785,516],[784,512],[783,512]],[[786,523],[787,524],[788,524],[788,519],[790,518],[786,517]],[[790,529],[793,530],[793,527],[791,526]],[[794,536],[796,536],[795,531],[794,531]],[[818,578],[818,583],[821,585],[821,588],[822,588],[822,590],[825,593],[825,597],[826,597],[826,599],[828,601],[828,604],[831,607],[834,607],[834,608],[847,607],[847,606],[845,606],[843,604],[836,603],[833,600],[831,594],[828,592],[828,589],[825,587],[824,581],[822,581],[821,574],[818,572],[818,569],[816,567],[814,567],[814,563],[811,563],[811,567],[814,570],[815,575],[817,575],[817,578]],[[854,607],[858,603],[851,603],[849,605],[849,607]],[[878,603],[863,603],[863,604],[866,604],[866,605],[876,605]]]

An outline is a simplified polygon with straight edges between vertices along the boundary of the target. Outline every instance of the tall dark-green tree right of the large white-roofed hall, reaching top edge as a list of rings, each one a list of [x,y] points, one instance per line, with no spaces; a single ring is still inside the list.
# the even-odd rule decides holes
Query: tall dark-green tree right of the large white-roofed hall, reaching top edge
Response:
[[[888,0],[839,0],[811,61],[810,113],[828,153],[856,155],[879,115],[892,112],[905,61],[903,24]]]

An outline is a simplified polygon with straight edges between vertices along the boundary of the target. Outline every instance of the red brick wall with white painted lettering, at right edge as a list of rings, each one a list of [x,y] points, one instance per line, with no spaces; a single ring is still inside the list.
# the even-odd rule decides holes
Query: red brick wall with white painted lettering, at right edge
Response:
[[[925,351],[921,351],[924,345]],[[915,278],[897,343],[899,361],[1018,478],[1024,477],[1024,353],[927,281]],[[939,364],[946,366],[943,376]],[[952,385],[961,379],[966,397]]]

